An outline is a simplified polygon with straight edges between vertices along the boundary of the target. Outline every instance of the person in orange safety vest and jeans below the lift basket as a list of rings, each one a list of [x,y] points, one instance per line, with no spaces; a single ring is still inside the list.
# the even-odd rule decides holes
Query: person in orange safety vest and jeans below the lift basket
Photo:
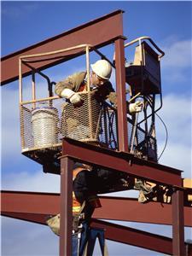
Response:
[[[73,256],[82,256],[94,229],[90,229],[90,218],[94,210],[102,207],[97,193],[106,189],[109,183],[126,186],[127,174],[94,168],[82,163],[73,166]],[[48,216],[46,223],[57,235],[60,235],[60,214]],[[104,243],[106,250],[106,244]]]

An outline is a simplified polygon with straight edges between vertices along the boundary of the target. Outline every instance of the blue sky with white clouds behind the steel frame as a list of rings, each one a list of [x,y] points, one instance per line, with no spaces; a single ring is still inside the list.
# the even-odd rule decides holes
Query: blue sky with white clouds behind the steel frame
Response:
[[[1,53],[2,56],[8,55],[116,9],[125,10],[123,27],[127,42],[149,36],[166,53],[161,61],[164,98],[160,116],[166,123],[169,137],[160,163],[183,170],[183,177],[191,177],[191,7],[191,2],[3,1]],[[111,50],[106,51],[110,57]],[[63,72],[53,69],[50,73],[55,80],[64,78],[76,67],[82,67],[81,63],[73,65],[65,66]],[[59,192],[58,177],[44,174],[41,166],[20,154],[18,81],[1,88],[1,100],[2,188]],[[164,147],[165,134],[163,126],[157,121],[159,152]],[[2,218],[2,227],[3,256],[57,255],[58,239],[47,227],[10,218]],[[168,226],[140,224],[139,228],[172,236]],[[189,236],[192,237],[191,230],[186,229],[186,237]],[[20,246],[24,239],[24,246]],[[127,255],[127,250],[130,255],[160,255],[112,242],[108,245],[109,255],[113,256]]]

